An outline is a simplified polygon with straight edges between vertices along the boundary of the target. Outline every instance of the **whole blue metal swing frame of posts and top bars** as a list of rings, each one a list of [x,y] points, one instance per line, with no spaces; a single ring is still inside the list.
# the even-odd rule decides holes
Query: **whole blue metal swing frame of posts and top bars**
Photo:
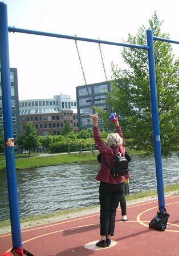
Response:
[[[47,37],[66,38],[66,39],[73,39],[78,41],[103,43],[105,45],[116,45],[116,46],[132,47],[136,49],[148,50],[150,98],[151,98],[151,104],[152,104],[152,122],[153,122],[154,153],[155,153],[155,161],[156,161],[156,175],[157,175],[158,207],[159,208],[161,206],[165,207],[153,40],[164,41],[169,43],[177,43],[177,44],[179,42],[172,41],[170,39],[165,39],[165,38],[153,37],[152,30],[147,30],[148,45],[142,46],[142,45],[132,45],[129,43],[109,42],[109,41],[102,41],[102,40],[96,40],[96,39],[90,39],[90,38],[73,37],[70,35],[61,35],[61,34],[54,34],[54,33],[46,33],[42,31],[8,27],[7,6],[5,5],[5,3],[0,2],[0,56],[1,56],[1,81],[2,81],[1,84],[2,84],[3,123],[4,123],[5,141],[9,138],[13,138],[8,31],[13,33],[18,32],[18,33],[27,33],[27,34],[34,34],[34,35],[45,35]],[[8,183],[8,191],[9,191],[10,219],[11,219],[13,246],[22,247],[14,146],[6,145],[5,153],[6,153],[7,183]],[[163,211],[163,209],[161,209],[161,211]]]

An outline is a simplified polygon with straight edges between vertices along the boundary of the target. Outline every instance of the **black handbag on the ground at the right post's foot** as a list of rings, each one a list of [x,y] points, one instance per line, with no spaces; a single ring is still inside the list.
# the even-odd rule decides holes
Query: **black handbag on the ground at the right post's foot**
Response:
[[[159,211],[157,211],[156,217],[154,217],[152,221],[150,221],[149,227],[152,229],[165,231],[170,214],[166,213],[166,209],[164,213],[161,213],[161,208],[165,209],[165,207],[163,206],[160,207]]]

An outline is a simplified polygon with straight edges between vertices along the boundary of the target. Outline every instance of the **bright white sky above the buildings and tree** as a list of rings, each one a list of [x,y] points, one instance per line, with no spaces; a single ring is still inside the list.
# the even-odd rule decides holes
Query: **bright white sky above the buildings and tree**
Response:
[[[179,41],[176,0],[5,0],[9,26],[113,42],[135,35],[157,11],[162,31]],[[87,83],[105,81],[96,43],[78,42]],[[108,79],[111,62],[123,66],[121,47],[101,45]],[[19,100],[52,98],[63,93],[76,98],[84,85],[75,42],[68,39],[9,33],[10,67],[18,69]],[[179,52],[174,45],[174,53]]]

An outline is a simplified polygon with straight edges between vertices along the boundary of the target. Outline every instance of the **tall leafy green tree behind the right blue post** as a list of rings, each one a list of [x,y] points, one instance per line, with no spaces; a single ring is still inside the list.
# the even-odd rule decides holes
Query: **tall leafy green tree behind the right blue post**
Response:
[[[149,19],[149,28],[153,30],[154,36],[169,38],[168,34],[161,32],[161,25],[155,12]],[[143,25],[137,35],[128,34],[127,43],[147,45],[146,30]],[[170,43],[154,41],[154,51],[162,154],[169,155],[171,151],[177,150],[178,145],[179,59],[174,57]],[[125,47],[122,57],[128,69],[112,63],[113,92],[108,101],[122,117],[125,138],[130,138],[128,146],[153,153],[148,53]]]

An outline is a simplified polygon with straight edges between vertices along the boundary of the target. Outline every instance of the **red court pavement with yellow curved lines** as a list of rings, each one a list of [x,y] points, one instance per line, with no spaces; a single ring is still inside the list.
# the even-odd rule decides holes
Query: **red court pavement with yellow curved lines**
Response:
[[[149,229],[148,224],[158,210],[157,198],[128,203],[128,221],[121,221],[117,210],[112,245],[95,246],[99,236],[99,209],[96,212],[67,217],[22,229],[23,247],[35,256],[178,256],[179,193],[165,197],[170,214],[165,231]],[[0,235],[0,253],[11,249],[11,233]]]

